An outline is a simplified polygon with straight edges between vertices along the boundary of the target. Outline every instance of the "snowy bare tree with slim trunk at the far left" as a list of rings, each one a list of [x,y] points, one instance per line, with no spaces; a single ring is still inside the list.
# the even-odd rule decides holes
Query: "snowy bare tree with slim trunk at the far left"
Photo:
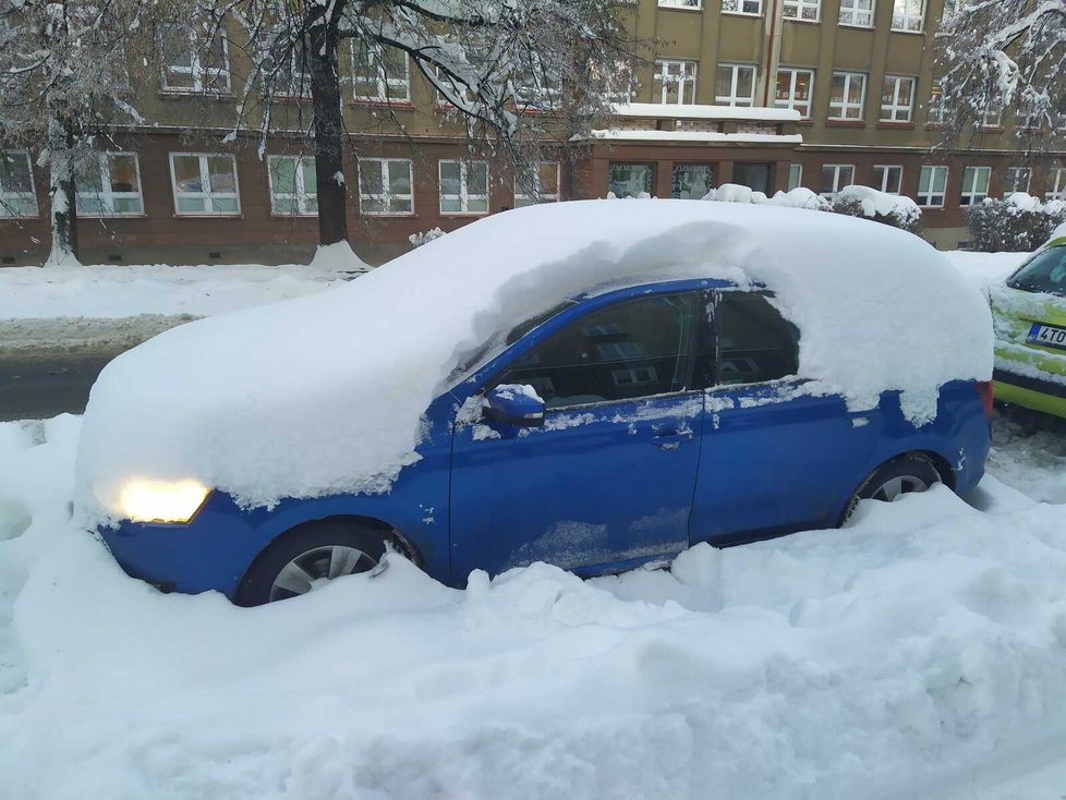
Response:
[[[143,122],[131,105],[129,62],[162,8],[158,0],[0,0],[0,148],[37,149],[48,173],[46,265],[77,263],[78,170],[117,126]]]

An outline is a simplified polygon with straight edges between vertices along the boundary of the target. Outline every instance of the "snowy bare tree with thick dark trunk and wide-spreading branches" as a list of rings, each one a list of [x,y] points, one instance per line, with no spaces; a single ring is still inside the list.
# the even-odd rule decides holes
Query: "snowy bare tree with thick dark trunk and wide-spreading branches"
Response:
[[[251,66],[230,138],[255,130],[262,154],[271,132],[291,130],[292,98],[310,104],[322,244],[348,238],[346,43],[383,74],[391,57],[405,54],[467,140],[506,157],[531,187],[541,148],[579,136],[606,112],[608,83],[629,74],[634,59],[610,0],[206,2],[204,13],[220,25],[237,20],[246,38],[238,46]]]

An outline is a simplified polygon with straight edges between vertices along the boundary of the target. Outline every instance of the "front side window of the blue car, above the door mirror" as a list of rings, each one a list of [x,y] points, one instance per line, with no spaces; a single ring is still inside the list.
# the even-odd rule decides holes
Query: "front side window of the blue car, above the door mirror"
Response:
[[[526,353],[499,383],[532,386],[549,409],[690,389],[702,306],[689,292],[601,308]]]

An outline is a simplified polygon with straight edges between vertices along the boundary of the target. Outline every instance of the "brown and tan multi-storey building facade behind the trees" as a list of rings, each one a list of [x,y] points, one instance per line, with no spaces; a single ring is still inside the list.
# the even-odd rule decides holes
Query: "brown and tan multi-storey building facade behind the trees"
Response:
[[[1023,191],[1066,196],[1066,148],[1018,155],[990,113],[965,149],[937,147],[933,33],[950,0],[637,0],[618,13],[649,63],[619,82],[616,113],[536,170],[536,196],[497,159],[470,155],[462,123],[402,53],[346,53],[349,228],[381,263],[412,234],[532,202],[647,193],[700,197],[741,183],[772,194],[849,183],[914,198],[941,247],[967,239],[964,209]],[[948,9],[949,13],[950,9]],[[307,104],[294,74],[289,136],[222,144],[240,96],[240,48],[160,48],[131,75],[152,124],[114,136],[78,182],[85,263],[280,263],[317,241]],[[1064,119],[1066,128],[1066,119]],[[32,149],[0,163],[0,265],[48,251],[47,185]],[[526,186],[523,189],[523,186]]]

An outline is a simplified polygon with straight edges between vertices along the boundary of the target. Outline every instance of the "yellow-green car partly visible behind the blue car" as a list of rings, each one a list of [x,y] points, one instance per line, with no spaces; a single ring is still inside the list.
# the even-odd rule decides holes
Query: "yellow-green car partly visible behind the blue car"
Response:
[[[1066,417],[1066,238],[990,290],[995,399]]]

